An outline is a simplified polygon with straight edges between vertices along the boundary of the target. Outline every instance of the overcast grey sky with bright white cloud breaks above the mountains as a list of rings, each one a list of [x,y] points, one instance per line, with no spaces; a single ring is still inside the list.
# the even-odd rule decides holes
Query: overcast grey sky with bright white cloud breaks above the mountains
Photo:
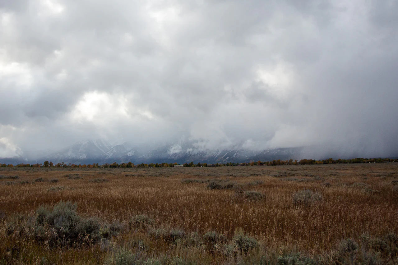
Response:
[[[97,138],[392,156],[398,1],[0,0],[0,93],[0,157]]]

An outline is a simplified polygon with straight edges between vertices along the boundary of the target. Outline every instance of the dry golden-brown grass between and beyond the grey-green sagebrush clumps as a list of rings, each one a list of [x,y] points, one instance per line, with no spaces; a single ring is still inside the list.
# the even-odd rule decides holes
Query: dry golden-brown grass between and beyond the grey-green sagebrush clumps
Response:
[[[117,220],[128,224],[133,215],[146,214],[154,219],[154,226],[158,228],[181,228],[187,233],[201,235],[215,231],[229,239],[237,228],[242,228],[258,240],[262,253],[269,255],[280,253],[281,249],[291,249],[310,256],[326,256],[345,238],[359,240],[364,233],[372,237],[390,232],[398,234],[398,193],[392,184],[398,179],[398,163],[217,168],[7,168],[0,169],[0,175],[19,176],[18,179],[0,180],[0,215],[3,212],[7,220],[16,213],[34,215],[35,209],[43,204],[72,201],[78,204],[80,215],[98,216],[108,223]],[[38,178],[45,181],[36,182]],[[58,179],[58,182],[50,182],[51,179]],[[93,179],[109,181],[97,183]],[[234,189],[211,190],[207,189],[206,183],[185,183],[183,179],[203,182],[228,179],[242,184],[246,190],[264,193],[265,199],[249,200],[236,195]],[[29,183],[20,184],[21,181]],[[259,184],[248,185],[255,181]],[[63,189],[51,190],[51,187]],[[320,193],[323,200],[310,205],[294,204],[294,193],[303,189]],[[146,250],[148,257],[160,254],[181,256],[181,251],[189,250],[190,255],[197,255],[199,259],[195,252],[198,250],[153,242],[144,232],[122,233],[113,239],[113,244],[130,246],[137,237],[150,245]],[[34,242],[16,243],[13,242],[16,239],[4,233],[0,240],[7,242],[0,247],[1,255],[10,255],[13,244],[20,247],[20,253],[9,259],[13,262],[39,263],[45,256],[55,263],[61,260],[62,263],[103,263],[110,255],[109,248],[104,251],[100,246],[60,251],[46,249]],[[176,251],[181,253],[176,254]],[[205,252],[210,258],[203,259],[211,259],[211,263],[231,262],[211,251]]]

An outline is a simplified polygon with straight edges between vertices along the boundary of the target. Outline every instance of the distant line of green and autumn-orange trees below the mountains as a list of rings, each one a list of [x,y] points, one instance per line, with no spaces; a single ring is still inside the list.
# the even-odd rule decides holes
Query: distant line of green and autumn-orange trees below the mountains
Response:
[[[387,163],[387,162],[398,162],[396,158],[351,158],[351,159],[325,159],[325,160],[315,160],[315,159],[301,159],[301,160],[272,160],[272,161],[260,161],[257,162],[243,162],[243,163],[234,163],[227,162],[225,164],[207,164],[207,163],[197,163],[194,164],[193,161],[185,164],[178,163],[150,163],[150,164],[137,164],[128,162],[128,163],[120,163],[113,162],[112,164],[105,163],[99,165],[98,163],[93,164],[66,164],[64,162],[54,164],[53,162],[49,162],[48,160],[44,161],[40,164],[0,164],[2,168],[172,168],[174,166],[184,166],[184,167],[218,167],[218,166],[280,166],[280,165],[323,165],[323,164],[359,164],[359,163]]]

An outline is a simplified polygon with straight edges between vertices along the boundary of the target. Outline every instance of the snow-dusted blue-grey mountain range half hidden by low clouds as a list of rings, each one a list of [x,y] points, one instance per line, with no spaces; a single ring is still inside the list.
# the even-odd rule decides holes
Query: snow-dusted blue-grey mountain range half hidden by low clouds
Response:
[[[261,151],[248,150],[242,145],[233,148],[203,149],[198,148],[197,142],[179,141],[178,143],[161,146],[139,146],[129,143],[112,146],[104,140],[85,140],[76,142],[62,150],[48,153],[40,157],[0,158],[0,163],[43,163],[45,160],[53,163],[92,164],[92,163],[226,163],[298,159],[302,148],[275,148]]]

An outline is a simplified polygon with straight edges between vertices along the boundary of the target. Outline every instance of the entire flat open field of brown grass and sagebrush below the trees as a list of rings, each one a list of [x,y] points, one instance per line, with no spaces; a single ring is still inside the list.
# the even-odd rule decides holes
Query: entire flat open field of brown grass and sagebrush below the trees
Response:
[[[0,264],[398,264],[397,180],[398,163],[1,168]],[[60,201],[98,227],[54,236]]]

